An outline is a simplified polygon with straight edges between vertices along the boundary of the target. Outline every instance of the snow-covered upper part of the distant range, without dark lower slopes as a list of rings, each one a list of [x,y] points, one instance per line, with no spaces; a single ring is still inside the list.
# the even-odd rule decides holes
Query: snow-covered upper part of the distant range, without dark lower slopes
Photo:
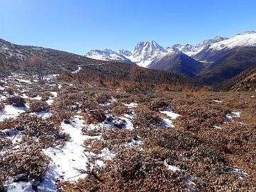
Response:
[[[159,46],[156,41],[146,41],[137,43],[133,52],[129,50],[90,50],[85,56],[98,60],[119,60],[122,62],[136,63],[142,67],[148,67],[153,61],[161,58],[172,57],[174,54],[184,53],[195,60],[203,62],[215,62],[224,55],[228,54],[231,49],[243,46],[256,46],[256,32],[246,31],[239,33],[233,38],[224,38],[216,36],[196,45],[176,44],[164,48]],[[154,64],[155,65],[155,64]]]

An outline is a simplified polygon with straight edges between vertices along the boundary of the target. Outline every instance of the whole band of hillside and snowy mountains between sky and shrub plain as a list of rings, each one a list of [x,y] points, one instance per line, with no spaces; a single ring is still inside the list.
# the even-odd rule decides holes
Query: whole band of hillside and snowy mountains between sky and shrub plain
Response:
[[[177,80],[182,79],[181,82],[187,84],[190,79],[192,84],[201,82],[231,89],[231,87],[239,87],[250,81],[251,88],[248,90],[253,90],[255,87],[255,75],[253,75],[255,72],[249,76],[250,80],[246,76],[256,68],[255,31],[239,33],[233,38],[216,36],[195,46],[176,44],[163,48],[155,41],[151,41],[138,43],[132,52],[105,49],[91,50],[86,55],[36,46],[19,46],[0,39],[0,75],[26,70],[26,61],[36,55],[46,61],[46,73],[63,71],[72,73],[86,68],[81,71],[92,79],[99,77],[105,80],[139,81],[143,79],[144,82],[151,82],[153,79],[156,82],[161,79],[161,82],[170,83],[174,78],[167,77],[171,75]],[[137,73],[136,70],[143,73]],[[165,70],[168,73],[162,73],[159,70]],[[122,75],[120,76],[117,72]],[[146,74],[149,77],[148,79],[146,76],[139,78],[139,74],[141,76]],[[124,78],[125,75],[129,77]],[[156,78],[156,76],[161,78]],[[235,85],[234,83],[238,83],[238,80],[241,84]],[[246,89],[245,85],[244,90]]]

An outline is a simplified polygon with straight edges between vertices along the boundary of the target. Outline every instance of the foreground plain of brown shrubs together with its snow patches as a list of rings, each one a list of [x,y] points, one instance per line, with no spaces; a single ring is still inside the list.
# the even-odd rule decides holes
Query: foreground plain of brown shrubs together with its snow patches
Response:
[[[0,82],[0,191],[255,191],[254,92]]]

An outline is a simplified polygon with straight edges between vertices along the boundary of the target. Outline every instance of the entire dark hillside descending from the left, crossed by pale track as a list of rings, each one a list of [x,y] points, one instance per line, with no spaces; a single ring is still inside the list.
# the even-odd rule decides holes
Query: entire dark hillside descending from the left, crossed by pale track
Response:
[[[141,68],[131,63],[94,60],[60,50],[34,46],[18,46],[4,40],[0,40],[0,42],[1,74],[14,72],[27,73],[28,65],[31,65],[31,58],[36,56],[41,58],[41,62],[44,65],[43,75],[61,73],[63,78],[67,78],[70,81],[97,80],[116,82],[121,80],[182,86],[193,86],[197,84],[196,81],[186,78],[183,75]],[[33,68],[30,70],[35,70],[33,75],[36,75],[37,69]]]

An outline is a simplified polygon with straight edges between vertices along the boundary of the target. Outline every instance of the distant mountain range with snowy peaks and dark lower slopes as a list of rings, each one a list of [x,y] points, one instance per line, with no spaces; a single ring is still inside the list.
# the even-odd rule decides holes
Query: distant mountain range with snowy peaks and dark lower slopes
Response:
[[[90,50],[86,56],[100,60],[132,62],[144,68],[168,70],[212,85],[233,78],[255,65],[255,50],[256,31],[245,31],[233,38],[216,36],[194,46],[176,44],[163,48],[155,41],[147,41],[137,43],[133,52]]]

